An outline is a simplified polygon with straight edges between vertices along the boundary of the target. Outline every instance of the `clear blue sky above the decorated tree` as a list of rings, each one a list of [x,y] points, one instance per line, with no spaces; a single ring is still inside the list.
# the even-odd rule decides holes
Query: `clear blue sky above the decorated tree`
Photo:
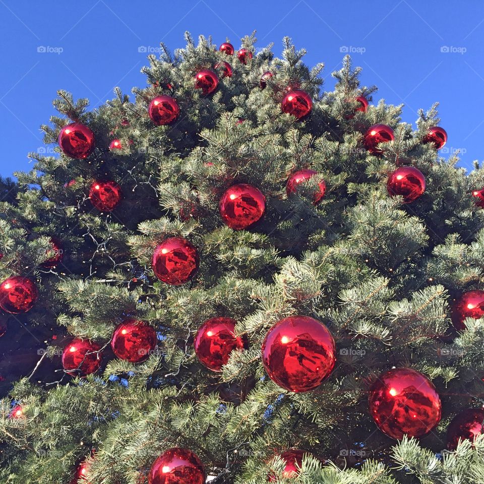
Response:
[[[32,167],[26,155],[44,147],[39,126],[54,113],[57,89],[88,97],[95,107],[114,86],[126,93],[145,86],[139,47],[183,47],[185,30],[212,35],[217,44],[228,36],[236,48],[257,30],[258,45],[274,42],[276,55],[288,35],[307,48],[308,65],[325,63],[327,90],[346,46],[364,68],[362,82],[379,87],[374,102],[404,103],[403,120],[414,124],[418,108],[440,101],[447,151],[461,149],[465,167],[484,159],[481,0],[0,0],[0,174]]]

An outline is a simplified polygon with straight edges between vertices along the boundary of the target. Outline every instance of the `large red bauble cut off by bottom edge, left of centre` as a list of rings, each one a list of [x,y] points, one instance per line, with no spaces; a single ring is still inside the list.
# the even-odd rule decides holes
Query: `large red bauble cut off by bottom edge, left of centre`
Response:
[[[205,468],[195,452],[175,447],[163,452],[151,466],[149,484],[205,484]]]

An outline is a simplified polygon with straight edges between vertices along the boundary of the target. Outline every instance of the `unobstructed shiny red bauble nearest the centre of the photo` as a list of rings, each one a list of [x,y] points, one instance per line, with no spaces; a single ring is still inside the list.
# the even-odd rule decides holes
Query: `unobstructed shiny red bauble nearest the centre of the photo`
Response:
[[[243,230],[264,215],[266,198],[256,187],[239,183],[225,191],[218,208],[226,225],[234,230]]]

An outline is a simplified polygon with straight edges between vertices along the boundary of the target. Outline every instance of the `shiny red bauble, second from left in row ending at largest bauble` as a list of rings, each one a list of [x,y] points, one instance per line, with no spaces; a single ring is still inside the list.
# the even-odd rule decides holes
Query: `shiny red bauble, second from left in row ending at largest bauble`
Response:
[[[157,339],[153,327],[143,321],[128,319],[114,330],[111,347],[118,358],[138,363],[155,349]]]

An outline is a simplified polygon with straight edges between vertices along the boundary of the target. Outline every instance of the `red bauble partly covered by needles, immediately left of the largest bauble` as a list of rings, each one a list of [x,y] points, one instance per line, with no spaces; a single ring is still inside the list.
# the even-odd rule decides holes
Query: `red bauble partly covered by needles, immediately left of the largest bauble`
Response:
[[[244,347],[241,338],[235,336],[235,323],[231,318],[211,318],[198,330],[195,353],[209,370],[221,371],[232,350]]]

